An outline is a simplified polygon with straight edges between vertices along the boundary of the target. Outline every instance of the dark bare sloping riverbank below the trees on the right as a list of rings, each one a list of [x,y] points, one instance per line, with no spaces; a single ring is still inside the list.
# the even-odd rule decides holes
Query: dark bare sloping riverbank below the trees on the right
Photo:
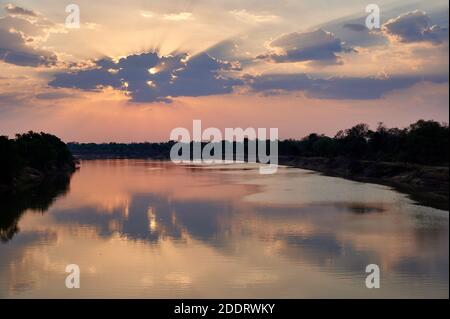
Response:
[[[408,194],[421,205],[449,210],[448,166],[296,156],[281,156],[279,163],[329,176],[390,186]]]

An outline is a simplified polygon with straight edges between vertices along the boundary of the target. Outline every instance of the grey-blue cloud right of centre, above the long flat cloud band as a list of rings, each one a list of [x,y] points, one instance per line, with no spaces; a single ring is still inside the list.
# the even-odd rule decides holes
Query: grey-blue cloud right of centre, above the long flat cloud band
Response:
[[[337,53],[348,51],[332,33],[322,29],[311,32],[293,32],[273,40],[269,47],[272,52],[258,56],[272,62],[320,61],[322,63],[339,63]]]

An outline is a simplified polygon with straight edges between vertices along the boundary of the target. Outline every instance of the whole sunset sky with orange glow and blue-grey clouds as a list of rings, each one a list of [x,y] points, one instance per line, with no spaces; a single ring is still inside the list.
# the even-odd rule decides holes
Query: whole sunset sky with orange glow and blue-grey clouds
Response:
[[[79,28],[66,6],[80,9]],[[380,9],[369,30],[368,4]],[[445,0],[0,0],[0,135],[448,122]]]

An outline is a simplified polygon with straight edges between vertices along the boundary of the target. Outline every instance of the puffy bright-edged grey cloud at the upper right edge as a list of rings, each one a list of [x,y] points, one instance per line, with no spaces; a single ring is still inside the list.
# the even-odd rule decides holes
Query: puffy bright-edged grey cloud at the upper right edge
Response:
[[[431,25],[431,20],[423,11],[412,11],[390,19],[382,26],[383,32],[400,42],[431,42],[440,44],[448,41],[448,29]]]

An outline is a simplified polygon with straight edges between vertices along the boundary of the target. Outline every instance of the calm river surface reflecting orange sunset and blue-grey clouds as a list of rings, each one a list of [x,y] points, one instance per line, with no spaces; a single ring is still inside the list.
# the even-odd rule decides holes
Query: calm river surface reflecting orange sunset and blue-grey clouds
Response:
[[[448,212],[385,186],[248,164],[84,161],[41,210],[1,223],[0,297],[449,296]],[[80,289],[65,286],[68,264]],[[379,289],[366,288],[368,264]]]

